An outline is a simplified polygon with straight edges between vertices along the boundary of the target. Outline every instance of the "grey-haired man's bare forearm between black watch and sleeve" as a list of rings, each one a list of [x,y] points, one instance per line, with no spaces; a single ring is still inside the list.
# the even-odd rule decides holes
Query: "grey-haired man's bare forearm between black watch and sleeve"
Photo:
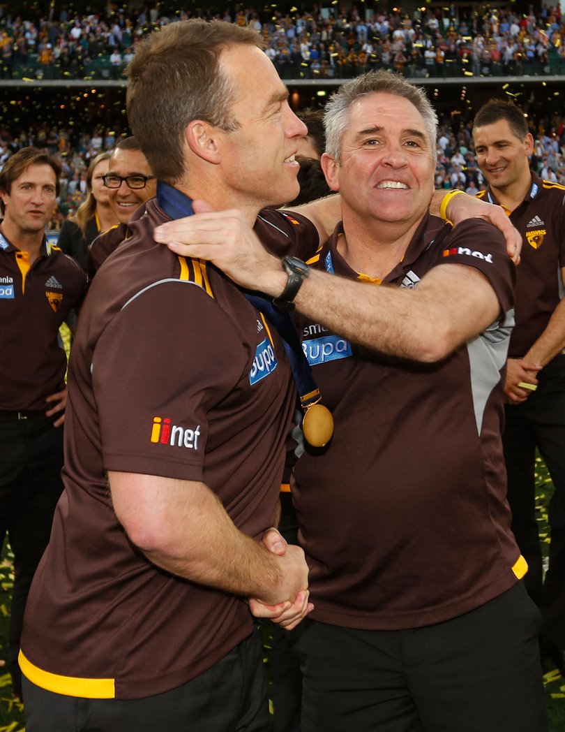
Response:
[[[452,266],[457,265],[445,269]],[[445,270],[434,271],[414,290],[312,271],[295,303],[300,313],[354,343],[390,356],[437,362],[498,316],[498,301],[485,277],[469,267],[458,270],[457,283],[448,282]]]

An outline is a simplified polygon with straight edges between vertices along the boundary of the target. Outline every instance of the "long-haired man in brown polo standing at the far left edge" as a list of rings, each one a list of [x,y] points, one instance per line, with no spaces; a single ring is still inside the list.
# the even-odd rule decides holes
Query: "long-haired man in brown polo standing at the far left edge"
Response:
[[[23,610],[63,490],[67,356],[58,330],[86,283],[45,239],[60,173],[35,148],[12,155],[0,172],[0,542],[8,534],[14,552],[8,668],[18,696]]]

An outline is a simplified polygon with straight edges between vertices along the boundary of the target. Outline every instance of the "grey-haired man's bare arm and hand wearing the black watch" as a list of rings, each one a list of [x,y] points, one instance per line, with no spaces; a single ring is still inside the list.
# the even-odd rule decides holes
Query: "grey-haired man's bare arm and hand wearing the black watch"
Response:
[[[193,216],[159,230],[157,241],[172,239],[173,251],[211,260],[245,287],[277,297],[287,284],[281,261],[262,247],[238,211]],[[444,358],[500,314],[486,277],[461,264],[434,267],[414,290],[372,287],[312,270],[295,305],[354,343],[424,362]]]

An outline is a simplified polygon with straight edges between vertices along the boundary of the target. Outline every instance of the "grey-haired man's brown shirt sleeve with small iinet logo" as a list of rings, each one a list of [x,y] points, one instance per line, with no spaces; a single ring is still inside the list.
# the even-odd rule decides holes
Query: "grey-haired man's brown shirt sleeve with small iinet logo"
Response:
[[[516,268],[507,255],[501,231],[479,218],[458,224],[447,234],[437,264],[465,264],[479,269],[493,287],[501,313],[514,307]]]

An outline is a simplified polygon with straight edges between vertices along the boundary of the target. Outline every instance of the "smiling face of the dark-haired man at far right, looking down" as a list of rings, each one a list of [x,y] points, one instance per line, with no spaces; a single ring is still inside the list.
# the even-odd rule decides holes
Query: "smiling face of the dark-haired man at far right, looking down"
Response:
[[[534,152],[534,138],[528,132],[517,138],[507,119],[475,127],[473,130],[477,163],[494,189],[527,186],[530,182],[528,156]]]

